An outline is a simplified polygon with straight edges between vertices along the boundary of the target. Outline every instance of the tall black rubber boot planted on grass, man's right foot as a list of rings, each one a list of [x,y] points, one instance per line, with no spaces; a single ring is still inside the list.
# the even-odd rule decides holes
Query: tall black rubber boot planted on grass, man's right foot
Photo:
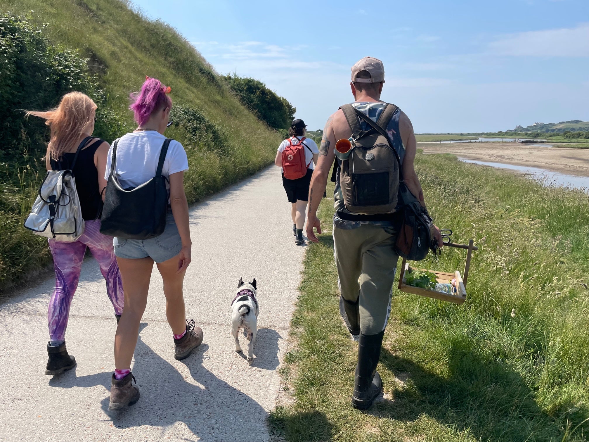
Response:
[[[382,392],[382,382],[376,371],[383,330],[378,335],[366,336],[360,333],[358,342],[358,365],[356,365],[356,384],[352,394],[352,406],[359,410],[366,410]]]

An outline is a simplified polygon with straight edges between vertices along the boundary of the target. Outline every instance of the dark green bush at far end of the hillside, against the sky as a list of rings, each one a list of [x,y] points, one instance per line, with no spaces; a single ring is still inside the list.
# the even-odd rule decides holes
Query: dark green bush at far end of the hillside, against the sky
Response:
[[[224,78],[241,103],[268,126],[273,129],[290,127],[296,108],[286,98],[279,97],[262,81],[254,78],[241,78],[231,74]]]

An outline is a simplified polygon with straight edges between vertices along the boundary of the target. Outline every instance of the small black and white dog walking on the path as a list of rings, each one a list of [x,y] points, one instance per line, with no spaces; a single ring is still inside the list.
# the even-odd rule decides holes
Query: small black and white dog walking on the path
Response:
[[[257,315],[260,311],[256,299],[256,289],[256,278],[252,282],[243,282],[243,279],[239,278],[237,295],[231,301],[231,322],[233,322],[231,334],[235,338],[235,351],[241,353],[238,335],[240,329],[243,328],[250,341],[247,347],[247,360],[250,362],[253,360]]]

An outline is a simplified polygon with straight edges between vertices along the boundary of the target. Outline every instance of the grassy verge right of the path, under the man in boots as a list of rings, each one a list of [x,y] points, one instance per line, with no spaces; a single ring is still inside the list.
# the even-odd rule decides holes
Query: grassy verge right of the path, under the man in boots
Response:
[[[473,238],[462,306],[393,291],[379,373],[389,401],[353,410],[357,345],[337,311],[330,236],[307,249],[283,368],[294,403],[270,416],[289,441],[583,441],[589,435],[589,200],[520,176],[419,155],[438,226]],[[425,268],[454,271],[446,250]],[[399,261],[400,263],[400,261]],[[584,422],[584,423],[583,423]]]

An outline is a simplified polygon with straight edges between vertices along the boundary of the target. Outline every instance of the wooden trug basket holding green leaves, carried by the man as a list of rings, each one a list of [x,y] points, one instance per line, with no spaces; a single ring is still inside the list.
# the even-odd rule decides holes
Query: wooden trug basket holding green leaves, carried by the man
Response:
[[[449,283],[452,281],[452,278],[456,278],[456,293],[454,295],[450,295],[449,293],[438,292],[432,289],[422,289],[420,287],[414,287],[412,285],[407,285],[405,272],[409,269],[409,264],[407,260],[403,258],[403,262],[401,263],[401,274],[399,275],[399,290],[405,293],[413,293],[413,295],[420,295],[420,296],[428,296],[428,298],[435,298],[441,299],[442,301],[450,301],[455,302],[455,304],[462,304],[466,300],[466,281],[468,281],[468,271],[471,267],[471,257],[472,251],[478,250],[478,247],[473,245],[474,242],[469,240],[468,246],[465,244],[454,244],[454,243],[445,243],[444,247],[455,247],[458,249],[466,249],[468,252],[466,253],[466,265],[464,266],[464,279],[460,275],[459,271],[455,273],[447,273],[447,272],[435,272],[430,271],[436,274],[436,281],[440,283]],[[425,270],[423,270],[425,272]]]

